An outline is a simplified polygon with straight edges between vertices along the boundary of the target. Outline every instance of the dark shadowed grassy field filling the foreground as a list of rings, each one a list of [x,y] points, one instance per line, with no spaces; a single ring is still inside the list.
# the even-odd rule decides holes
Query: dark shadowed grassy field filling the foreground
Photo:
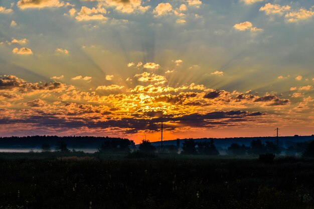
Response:
[[[0,208],[314,208],[313,179],[291,157],[1,153]]]

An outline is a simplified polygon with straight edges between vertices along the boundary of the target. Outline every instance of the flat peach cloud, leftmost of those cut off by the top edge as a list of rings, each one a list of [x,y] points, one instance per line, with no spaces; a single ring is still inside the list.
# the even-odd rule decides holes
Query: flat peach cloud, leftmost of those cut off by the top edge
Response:
[[[20,0],[17,6],[24,9],[41,9],[41,8],[53,8],[53,7],[65,7],[67,5],[59,0]]]

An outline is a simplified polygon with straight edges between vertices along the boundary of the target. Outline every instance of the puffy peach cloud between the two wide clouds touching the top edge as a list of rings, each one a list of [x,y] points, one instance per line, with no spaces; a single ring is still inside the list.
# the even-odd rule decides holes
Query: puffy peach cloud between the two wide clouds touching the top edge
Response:
[[[72,11],[72,13],[74,13],[74,11]],[[81,7],[81,11],[77,14],[75,19],[79,22],[80,21],[106,21],[108,18],[103,16],[103,14],[106,14],[106,13],[107,13],[106,9],[101,8],[101,7],[90,9],[88,7],[83,6]],[[74,16],[74,14],[71,15],[70,13],[71,16]]]

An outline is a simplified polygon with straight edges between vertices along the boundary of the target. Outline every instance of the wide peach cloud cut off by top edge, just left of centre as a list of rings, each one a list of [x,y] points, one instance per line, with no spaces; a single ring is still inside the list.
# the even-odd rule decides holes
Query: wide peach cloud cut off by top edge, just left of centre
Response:
[[[128,14],[144,13],[150,8],[150,6],[143,6],[141,0],[98,0],[98,2],[101,2],[99,5],[115,8],[116,11]]]

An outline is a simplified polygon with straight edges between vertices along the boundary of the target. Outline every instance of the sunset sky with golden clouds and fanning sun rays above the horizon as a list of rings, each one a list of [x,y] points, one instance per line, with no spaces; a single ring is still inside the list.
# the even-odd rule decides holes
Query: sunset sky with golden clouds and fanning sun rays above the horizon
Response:
[[[0,0],[0,136],[314,133],[314,2]]]

